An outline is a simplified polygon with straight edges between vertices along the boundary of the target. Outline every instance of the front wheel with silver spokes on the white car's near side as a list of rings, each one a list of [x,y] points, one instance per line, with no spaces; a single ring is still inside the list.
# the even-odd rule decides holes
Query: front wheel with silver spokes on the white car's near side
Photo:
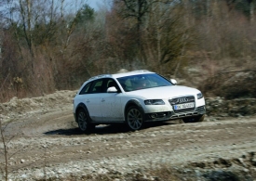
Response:
[[[141,129],[144,122],[143,111],[136,106],[129,107],[126,114],[126,122],[131,131]]]

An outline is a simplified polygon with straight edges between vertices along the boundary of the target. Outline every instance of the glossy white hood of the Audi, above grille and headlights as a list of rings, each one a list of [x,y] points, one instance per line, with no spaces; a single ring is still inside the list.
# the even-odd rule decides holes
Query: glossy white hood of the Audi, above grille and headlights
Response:
[[[143,97],[145,99],[195,96],[198,93],[200,93],[199,90],[182,85],[160,86],[127,92],[128,95]]]

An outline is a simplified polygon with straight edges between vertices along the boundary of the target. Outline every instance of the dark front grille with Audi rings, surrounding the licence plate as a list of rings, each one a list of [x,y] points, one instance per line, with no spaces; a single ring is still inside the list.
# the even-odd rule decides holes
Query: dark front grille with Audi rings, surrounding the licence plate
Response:
[[[184,104],[184,103],[191,103],[194,102],[195,105],[195,97],[176,97],[168,100],[169,104],[172,106],[172,110],[175,113],[179,112],[186,112],[186,111],[194,111],[195,108],[188,108],[188,109],[182,109],[182,110],[174,110],[174,106],[177,104]]]

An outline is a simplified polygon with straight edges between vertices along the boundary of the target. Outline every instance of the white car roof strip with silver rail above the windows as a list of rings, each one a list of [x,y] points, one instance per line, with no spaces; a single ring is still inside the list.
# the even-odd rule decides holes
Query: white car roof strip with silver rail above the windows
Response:
[[[155,73],[155,72],[147,71],[147,70],[139,70],[139,71],[128,71],[128,72],[121,72],[121,73],[115,73],[115,74],[101,74],[101,75],[97,75],[89,78],[88,81],[92,81],[100,78],[119,78],[119,77],[126,77],[130,75],[147,74],[147,73]]]

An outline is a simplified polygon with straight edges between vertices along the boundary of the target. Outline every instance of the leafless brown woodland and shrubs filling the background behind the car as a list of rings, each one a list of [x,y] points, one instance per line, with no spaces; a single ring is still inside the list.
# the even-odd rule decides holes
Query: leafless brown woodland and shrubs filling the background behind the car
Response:
[[[256,0],[107,2],[1,0],[0,102],[121,69],[186,80],[206,96],[256,97]]]

